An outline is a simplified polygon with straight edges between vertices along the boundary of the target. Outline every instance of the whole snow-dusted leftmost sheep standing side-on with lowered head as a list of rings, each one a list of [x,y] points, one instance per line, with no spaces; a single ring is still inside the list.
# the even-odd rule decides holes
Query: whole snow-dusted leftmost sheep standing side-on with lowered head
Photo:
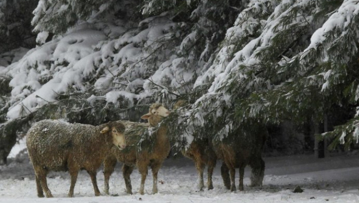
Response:
[[[99,126],[67,123],[59,120],[41,120],[27,132],[26,146],[35,171],[37,196],[52,198],[46,176],[50,171],[69,171],[71,186],[68,197],[73,197],[79,170],[85,169],[91,177],[95,196],[96,170],[113,145],[119,150],[126,147],[125,126],[121,121]]]

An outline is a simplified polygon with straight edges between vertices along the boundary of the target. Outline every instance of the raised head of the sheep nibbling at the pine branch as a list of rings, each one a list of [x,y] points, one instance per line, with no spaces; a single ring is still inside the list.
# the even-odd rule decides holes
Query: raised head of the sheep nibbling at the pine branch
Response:
[[[150,110],[142,119],[147,119],[152,126],[156,126],[164,117],[170,115],[170,111],[162,103],[154,103],[150,106]]]

